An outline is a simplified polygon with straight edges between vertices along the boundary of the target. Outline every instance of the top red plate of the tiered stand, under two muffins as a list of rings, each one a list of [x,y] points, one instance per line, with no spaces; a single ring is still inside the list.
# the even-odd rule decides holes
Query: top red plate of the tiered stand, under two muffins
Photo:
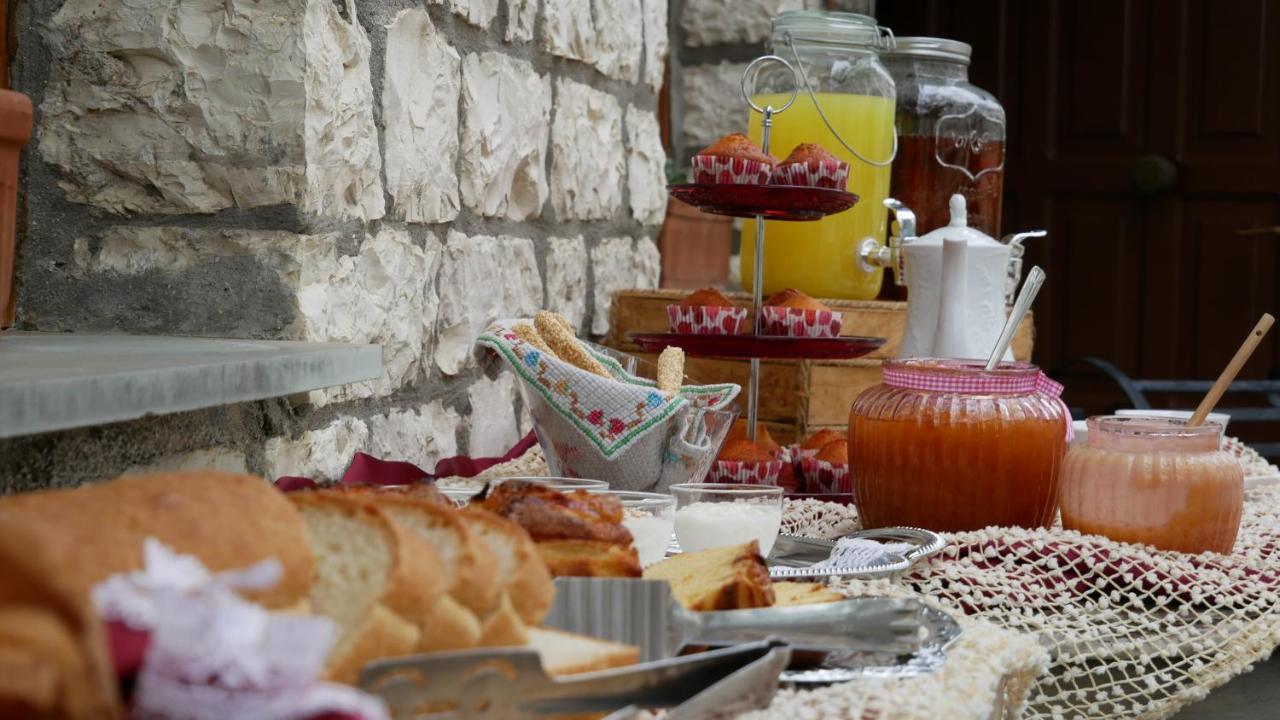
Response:
[[[844,213],[858,202],[858,196],[828,187],[790,184],[672,184],[671,196],[703,213],[771,220],[820,220]]]

